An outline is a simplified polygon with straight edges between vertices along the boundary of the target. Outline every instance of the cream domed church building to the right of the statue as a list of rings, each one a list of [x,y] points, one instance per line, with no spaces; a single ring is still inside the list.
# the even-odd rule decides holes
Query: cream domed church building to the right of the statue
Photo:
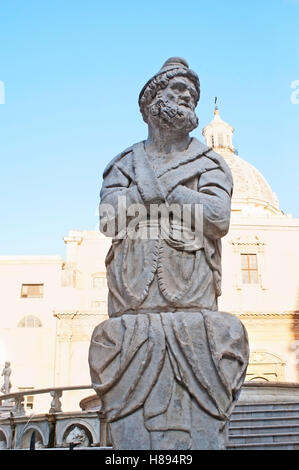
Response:
[[[217,108],[202,132],[234,179],[219,308],[238,315],[247,328],[247,380],[298,382],[299,219],[280,210],[263,175],[236,155],[233,132]]]

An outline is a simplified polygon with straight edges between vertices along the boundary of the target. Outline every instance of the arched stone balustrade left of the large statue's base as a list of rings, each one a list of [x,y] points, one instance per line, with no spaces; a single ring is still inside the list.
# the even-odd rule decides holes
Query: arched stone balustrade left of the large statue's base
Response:
[[[0,450],[28,449],[33,432],[35,448],[105,447],[109,445],[108,427],[100,404],[92,409],[63,412],[61,397],[70,390],[91,390],[90,385],[51,387],[0,396]],[[26,395],[49,394],[47,413],[26,415]]]

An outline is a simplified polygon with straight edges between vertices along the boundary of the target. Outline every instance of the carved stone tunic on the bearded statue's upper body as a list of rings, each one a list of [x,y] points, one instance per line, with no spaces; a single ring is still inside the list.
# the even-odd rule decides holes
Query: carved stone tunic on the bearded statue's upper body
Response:
[[[228,231],[231,172],[221,156],[197,139],[155,172],[144,149],[135,144],[104,173],[101,207],[115,208],[118,198],[132,204],[201,204],[203,236],[187,244],[156,239],[114,238],[106,258],[110,317],[124,313],[216,310],[221,293],[221,241]],[[111,219],[110,219],[111,223]],[[126,224],[130,223],[127,218]]]

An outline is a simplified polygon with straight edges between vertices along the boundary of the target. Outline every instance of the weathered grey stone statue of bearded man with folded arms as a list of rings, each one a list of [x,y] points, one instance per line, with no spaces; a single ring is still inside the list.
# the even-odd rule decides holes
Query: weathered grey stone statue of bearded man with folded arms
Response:
[[[168,59],[139,96],[147,140],[104,171],[110,318],[89,365],[114,449],[224,449],[246,374],[246,330],[217,311],[232,175],[189,135],[199,96],[187,62]]]

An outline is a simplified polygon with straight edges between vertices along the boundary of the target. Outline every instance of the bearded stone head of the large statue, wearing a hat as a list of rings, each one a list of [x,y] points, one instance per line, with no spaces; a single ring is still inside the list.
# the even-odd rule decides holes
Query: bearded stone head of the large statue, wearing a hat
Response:
[[[197,74],[184,59],[171,57],[142,88],[139,107],[148,125],[191,132],[198,126],[199,97]]]

